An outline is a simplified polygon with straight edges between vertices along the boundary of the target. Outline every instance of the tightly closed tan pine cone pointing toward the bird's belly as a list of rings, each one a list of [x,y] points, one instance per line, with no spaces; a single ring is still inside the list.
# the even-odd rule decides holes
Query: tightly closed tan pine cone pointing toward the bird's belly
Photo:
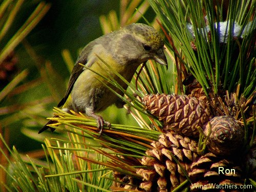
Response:
[[[174,130],[184,136],[198,137],[211,114],[208,106],[195,97],[155,94],[143,98],[146,110],[164,122],[164,132]]]

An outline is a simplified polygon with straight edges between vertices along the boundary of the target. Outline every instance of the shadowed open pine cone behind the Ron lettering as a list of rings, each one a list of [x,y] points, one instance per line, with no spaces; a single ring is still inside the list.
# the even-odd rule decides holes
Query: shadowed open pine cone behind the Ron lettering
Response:
[[[223,189],[226,191],[225,188],[218,186],[242,185],[243,179],[241,174],[240,166],[231,160],[207,153],[191,164],[191,171],[188,173],[188,176],[193,183],[190,185],[190,189],[191,191],[223,191]],[[229,186],[226,187],[228,189]],[[233,187],[232,191],[239,190]]]

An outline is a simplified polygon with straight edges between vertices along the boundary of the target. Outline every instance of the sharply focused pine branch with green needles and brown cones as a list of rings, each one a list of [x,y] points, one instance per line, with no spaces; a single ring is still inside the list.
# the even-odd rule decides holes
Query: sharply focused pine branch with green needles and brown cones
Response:
[[[108,33],[141,18],[130,12],[133,7],[143,13],[150,5],[165,34],[167,72],[149,61],[131,83],[117,74],[127,91],[102,76],[123,91],[124,96],[116,94],[137,124],[112,123],[99,135],[95,120],[55,108],[56,117],[49,119],[57,123],[51,127],[67,137],[45,140],[46,162],[25,162],[15,148],[8,148],[14,163],[6,157],[10,170],[1,167],[11,187],[162,192],[194,191],[192,183],[213,181],[256,187],[256,1],[148,2],[122,1],[121,19],[113,11],[100,18]],[[130,18],[122,20],[125,15]],[[220,176],[218,166],[238,172]],[[207,185],[207,190],[212,188]]]

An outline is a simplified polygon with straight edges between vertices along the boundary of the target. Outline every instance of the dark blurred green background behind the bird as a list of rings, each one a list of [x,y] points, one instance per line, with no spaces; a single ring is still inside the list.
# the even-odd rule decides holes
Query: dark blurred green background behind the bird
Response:
[[[1,41],[0,49],[23,25],[39,2],[42,1],[24,1],[8,34]],[[9,81],[25,69],[28,75],[0,101],[0,133],[9,146],[15,145],[19,152],[40,149],[44,138],[53,136],[50,132],[40,135],[37,132],[47,122],[46,118],[52,116],[53,107],[66,92],[70,71],[63,60],[62,51],[68,50],[75,62],[79,49],[103,34],[99,17],[108,15],[111,10],[116,11],[118,18],[121,17],[120,4],[125,2],[129,5],[130,1],[45,2],[51,5],[48,13],[14,50],[16,62]],[[146,9],[144,16],[152,21],[155,14],[151,8]],[[142,18],[138,21],[145,23]],[[2,83],[1,89],[4,85]],[[125,109],[116,109],[115,106],[106,110],[103,117],[111,123],[136,124]]]

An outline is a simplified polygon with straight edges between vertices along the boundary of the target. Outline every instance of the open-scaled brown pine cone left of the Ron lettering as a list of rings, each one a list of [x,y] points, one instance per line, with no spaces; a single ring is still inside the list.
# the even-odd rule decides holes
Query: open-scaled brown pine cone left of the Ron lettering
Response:
[[[140,187],[145,191],[171,191],[186,180],[182,168],[188,172],[190,164],[198,157],[195,140],[172,133],[160,135],[158,142],[151,144],[155,148],[146,152],[141,164],[147,168],[139,168],[137,174],[143,177]],[[173,155],[173,156],[172,156]]]

